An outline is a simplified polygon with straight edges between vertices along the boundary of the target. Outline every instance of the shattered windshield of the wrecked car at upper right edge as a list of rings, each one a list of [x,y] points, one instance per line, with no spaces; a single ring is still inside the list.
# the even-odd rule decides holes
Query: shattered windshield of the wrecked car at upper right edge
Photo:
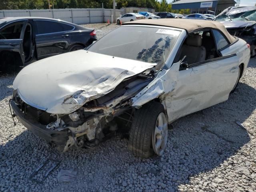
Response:
[[[246,12],[234,12],[234,14],[224,13],[218,15],[215,21],[256,21],[256,10]]]

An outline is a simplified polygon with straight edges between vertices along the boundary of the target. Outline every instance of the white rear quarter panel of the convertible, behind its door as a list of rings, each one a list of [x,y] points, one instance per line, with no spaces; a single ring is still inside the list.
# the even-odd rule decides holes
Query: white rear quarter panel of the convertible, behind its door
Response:
[[[248,62],[250,60],[250,49],[247,47],[247,44],[244,40],[238,38],[238,40],[233,43],[228,48],[221,51],[222,56],[226,56],[229,54],[237,54],[239,65],[244,64],[243,74],[246,72],[246,68],[248,66]]]

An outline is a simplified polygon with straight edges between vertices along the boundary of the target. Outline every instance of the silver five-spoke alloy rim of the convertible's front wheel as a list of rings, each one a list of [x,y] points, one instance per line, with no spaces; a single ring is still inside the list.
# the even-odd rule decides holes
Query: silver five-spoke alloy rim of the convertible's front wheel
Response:
[[[168,138],[168,124],[166,116],[161,112],[156,120],[156,125],[152,134],[152,146],[154,152],[161,156],[167,145]]]

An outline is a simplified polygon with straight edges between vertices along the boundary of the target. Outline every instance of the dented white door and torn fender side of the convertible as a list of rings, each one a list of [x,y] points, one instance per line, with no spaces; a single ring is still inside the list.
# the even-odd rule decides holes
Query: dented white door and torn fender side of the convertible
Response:
[[[180,63],[159,72],[148,86],[131,99],[131,105],[138,108],[161,96],[170,123],[228,99],[238,76],[237,56],[186,70],[179,70]]]

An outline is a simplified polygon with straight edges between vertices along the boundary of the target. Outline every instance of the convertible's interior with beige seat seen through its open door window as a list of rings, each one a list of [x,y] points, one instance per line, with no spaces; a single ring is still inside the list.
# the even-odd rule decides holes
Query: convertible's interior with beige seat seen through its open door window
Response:
[[[218,58],[214,36],[211,30],[197,31],[190,33],[182,44],[174,62],[183,60],[183,63],[189,65]]]

